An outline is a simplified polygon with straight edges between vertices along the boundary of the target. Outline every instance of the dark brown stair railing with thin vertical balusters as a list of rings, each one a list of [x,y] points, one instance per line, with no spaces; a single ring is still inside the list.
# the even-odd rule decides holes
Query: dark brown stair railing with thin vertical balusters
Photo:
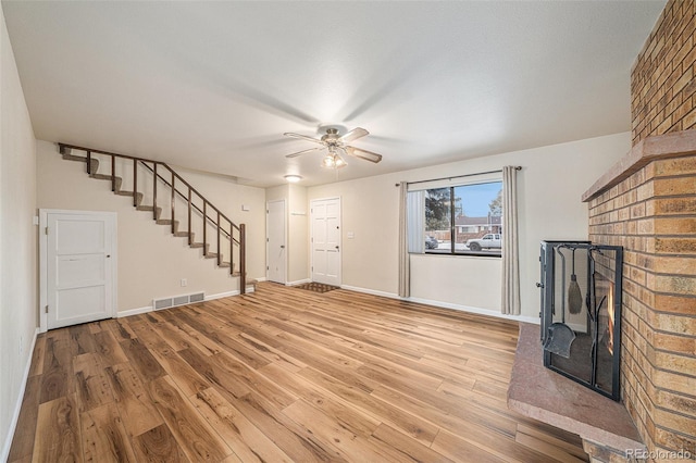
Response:
[[[190,208],[194,207],[197,211],[199,211],[204,221],[203,221],[203,246],[206,245],[206,221],[210,221],[213,225],[215,225],[215,227],[217,228],[217,265],[222,264],[222,252],[221,252],[221,247],[220,247],[220,234],[221,232],[226,236],[227,239],[229,239],[231,245],[234,246],[234,243],[236,243],[239,247],[239,287],[240,287],[240,292],[245,293],[246,292],[246,227],[245,224],[235,224],[229,217],[227,217],[222,211],[220,211],[212,202],[210,202],[203,195],[201,195],[195,187],[192,187],[188,182],[186,182],[186,179],[184,177],[182,177],[181,175],[178,175],[178,173],[176,171],[174,171],[172,167],[170,167],[166,163],[162,162],[162,161],[156,161],[156,160],[151,160],[151,159],[146,159],[146,158],[138,158],[138,157],[133,157],[133,155],[128,155],[128,154],[121,154],[121,153],[114,153],[114,152],[110,152],[110,151],[104,151],[104,150],[96,150],[92,148],[85,148],[85,147],[80,147],[77,145],[70,145],[70,143],[58,143],[60,152],[63,153],[65,152],[65,149],[70,149],[70,150],[78,150],[78,151],[85,151],[87,153],[87,173],[91,175],[91,154],[92,153],[97,153],[97,154],[103,154],[103,155],[109,155],[111,157],[111,184],[112,184],[112,190],[115,190],[115,158],[122,158],[122,159],[128,159],[132,160],[134,162],[134,182],[137,182],[137,173],[136,173],[136,163],[141,163],[142,165],[145,165],[150,172],[152,172],[153,177],[154,177],[154,183],[157,185],[157,180],[158,178],[161,179],[165,185],[167,185],[170,187],[170,189],[172,190],[172,213],[174,213],[174,195],[178,195],[182,198],[184,198],[185,200],[188,200],[188,205],[189,205],[189,211]],[[148,165],[148,163],[152,163],[154,168],[150,167]],[[165,167],[167,171],[170,171],[170,173],[172,174],[172,184],[170,184],[164,177],[162,177],[161,175],[159,175],[157,173],[157,165],[162,165],[163,167]],[[176,189],[176,186],[174,186],[175,179],[178,179],[179,182],[182,182],[189,190],[189,197],[187,198],[186,196],[184,196],[184,193],[182,193],[178,189]],[[154,190],[153,196],[153,210],[154,212],[157,211],[157,190]],[[202,201],[203,201],[203,211],[201,211],[196,204],[191,203],[190,201],[190,192],[196,193]],[[137,184],[134,183],[134,188],[133,188],[133,196],[135,199],[135,196],[137,195]],[[210,217],[207,213],[207,207],[210,207],[213,209],[214,212],[217,213],[217,223],[215,223],[215,221]],[[225,228],[223,228],[221,226],[221,221],[220,218],[224,218],[228,224],[229,224],[229,233],[227,233],[227,230],[225,230]],[[237,240],[234,237],[234,229],[237,229],[237,232],[239,233],[239,239]],[[174,215],[172,214],[172,232],[174,232]],[[190,245],[190,213],[189,213],[189,245]],[[206,252],[206,248],[203,247],[203,252]],[[234,259],[233,259],[233,249],[231,247],[229,249],[229,273],[234,273]]]

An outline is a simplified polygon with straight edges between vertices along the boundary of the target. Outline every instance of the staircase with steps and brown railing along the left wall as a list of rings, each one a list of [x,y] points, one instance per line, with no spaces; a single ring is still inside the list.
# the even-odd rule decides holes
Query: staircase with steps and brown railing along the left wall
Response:
[[[189,247],[200,248],[206,259],[239,277],[239,292],[246,292],[245,224],[232,222],[163,162],[58,146],[64,160],[85,163],[91,178],[111,182],[114,195],[132,197],[137,211],[151,213],[157,225],[170,227],[174,237],[186,238]],[[107,172],[99,172],[104,164]],[[124,184],[132,188],[123,189]]]

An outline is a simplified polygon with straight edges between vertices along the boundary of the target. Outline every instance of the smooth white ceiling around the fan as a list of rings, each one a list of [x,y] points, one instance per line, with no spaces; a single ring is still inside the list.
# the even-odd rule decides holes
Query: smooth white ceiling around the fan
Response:
[[[3,1],[39,139],[273,186],[629,130],[666,1]],[[285,132],[360,126],[332,172]]]

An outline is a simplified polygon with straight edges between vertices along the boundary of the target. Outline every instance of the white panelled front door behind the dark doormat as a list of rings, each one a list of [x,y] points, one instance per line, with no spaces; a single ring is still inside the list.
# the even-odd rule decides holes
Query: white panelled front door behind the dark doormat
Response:
[[[312,281],[340,286],[340,199],[311,202]]]

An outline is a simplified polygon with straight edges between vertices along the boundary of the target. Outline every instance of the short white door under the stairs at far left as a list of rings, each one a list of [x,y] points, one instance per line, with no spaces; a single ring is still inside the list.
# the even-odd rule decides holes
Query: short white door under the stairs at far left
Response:
[[[114,315],[115,214],[46,216],[48,329]]]

